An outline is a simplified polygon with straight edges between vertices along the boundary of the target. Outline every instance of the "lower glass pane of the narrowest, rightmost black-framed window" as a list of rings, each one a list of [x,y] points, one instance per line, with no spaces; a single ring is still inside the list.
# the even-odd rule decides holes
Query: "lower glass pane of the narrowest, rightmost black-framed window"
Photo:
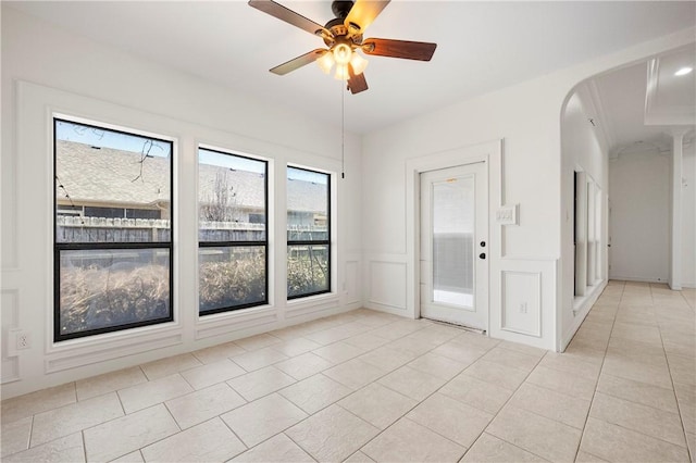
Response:
[[[328,246],[287,247],[287,296],[298,297],[330,290]]]

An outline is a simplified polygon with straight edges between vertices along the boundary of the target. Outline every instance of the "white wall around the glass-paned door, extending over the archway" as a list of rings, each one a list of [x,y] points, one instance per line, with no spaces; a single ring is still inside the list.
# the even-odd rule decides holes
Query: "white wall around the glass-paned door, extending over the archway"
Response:
[[[418,316],[417,197],[409,188],[410,165],[486,142],[502,142],[499,182],[489,195],[489,333],[494,337],[547,349],[562,349],[562,313],[572,313],[573,291],[563,272],[573,254],[567,243],[572,228],[572,168],[561,163],[561,109],[580,82],[612,67],[693,41],[693,29],[641,43],[610,55],[555,72],[485,96],[424,114],[370,134],[363,139],[364,299],[369,308]],[[599,161],[597,161],[599,162]],[[589,166],[587,167],[589,168]],[[594,167],[593,167],[594,168]],[[601,167],[606,171],[606,167]],[[606,179],[601,179],[605,182]],[[415,191],[417,192],[417,191]],[[500,204],[519,204],[519,225],[493,221]],[[606,236],[606,230],[604,233]],[[417,241],[417,240],[415,240]],[[572,246],[571,246],[572,247]],[[529,316],[538,320],[540,336],[507,329],[507,300],[524,295],[504,293],[505,275],[534,276],[539,306]],[[375,283],[376,279],[380,283]],[[534,278],[532,278],[534,279]],[[383,291],[387,287],[388,291]],[[524,287],[512,285],[511,287]],[[550,293],[548,292],[550,291]],[[403,297],[402,295],[407,296]],[[390,299],[385,297],[391,295]],[[570,333],[572,336],[572,333]]]

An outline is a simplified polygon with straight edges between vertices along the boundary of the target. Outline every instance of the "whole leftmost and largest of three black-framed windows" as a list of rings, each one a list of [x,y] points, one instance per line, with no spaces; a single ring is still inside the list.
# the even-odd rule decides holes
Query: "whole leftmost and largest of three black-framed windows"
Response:
[[[53,120],[54,339],[173,320],[172,141]]]

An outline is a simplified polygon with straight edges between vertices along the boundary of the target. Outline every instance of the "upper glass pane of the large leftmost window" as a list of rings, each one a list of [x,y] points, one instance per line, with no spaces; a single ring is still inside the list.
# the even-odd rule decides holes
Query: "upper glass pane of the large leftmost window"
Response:
[[[55,120],[55,241],[171,241],[172,142]]]

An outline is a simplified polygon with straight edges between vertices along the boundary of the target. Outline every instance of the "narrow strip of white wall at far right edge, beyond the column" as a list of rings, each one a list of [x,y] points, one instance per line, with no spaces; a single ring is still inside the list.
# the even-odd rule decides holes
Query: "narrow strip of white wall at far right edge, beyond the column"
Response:
[[[682,287],[696,288],[696,146],[682,158]]]

